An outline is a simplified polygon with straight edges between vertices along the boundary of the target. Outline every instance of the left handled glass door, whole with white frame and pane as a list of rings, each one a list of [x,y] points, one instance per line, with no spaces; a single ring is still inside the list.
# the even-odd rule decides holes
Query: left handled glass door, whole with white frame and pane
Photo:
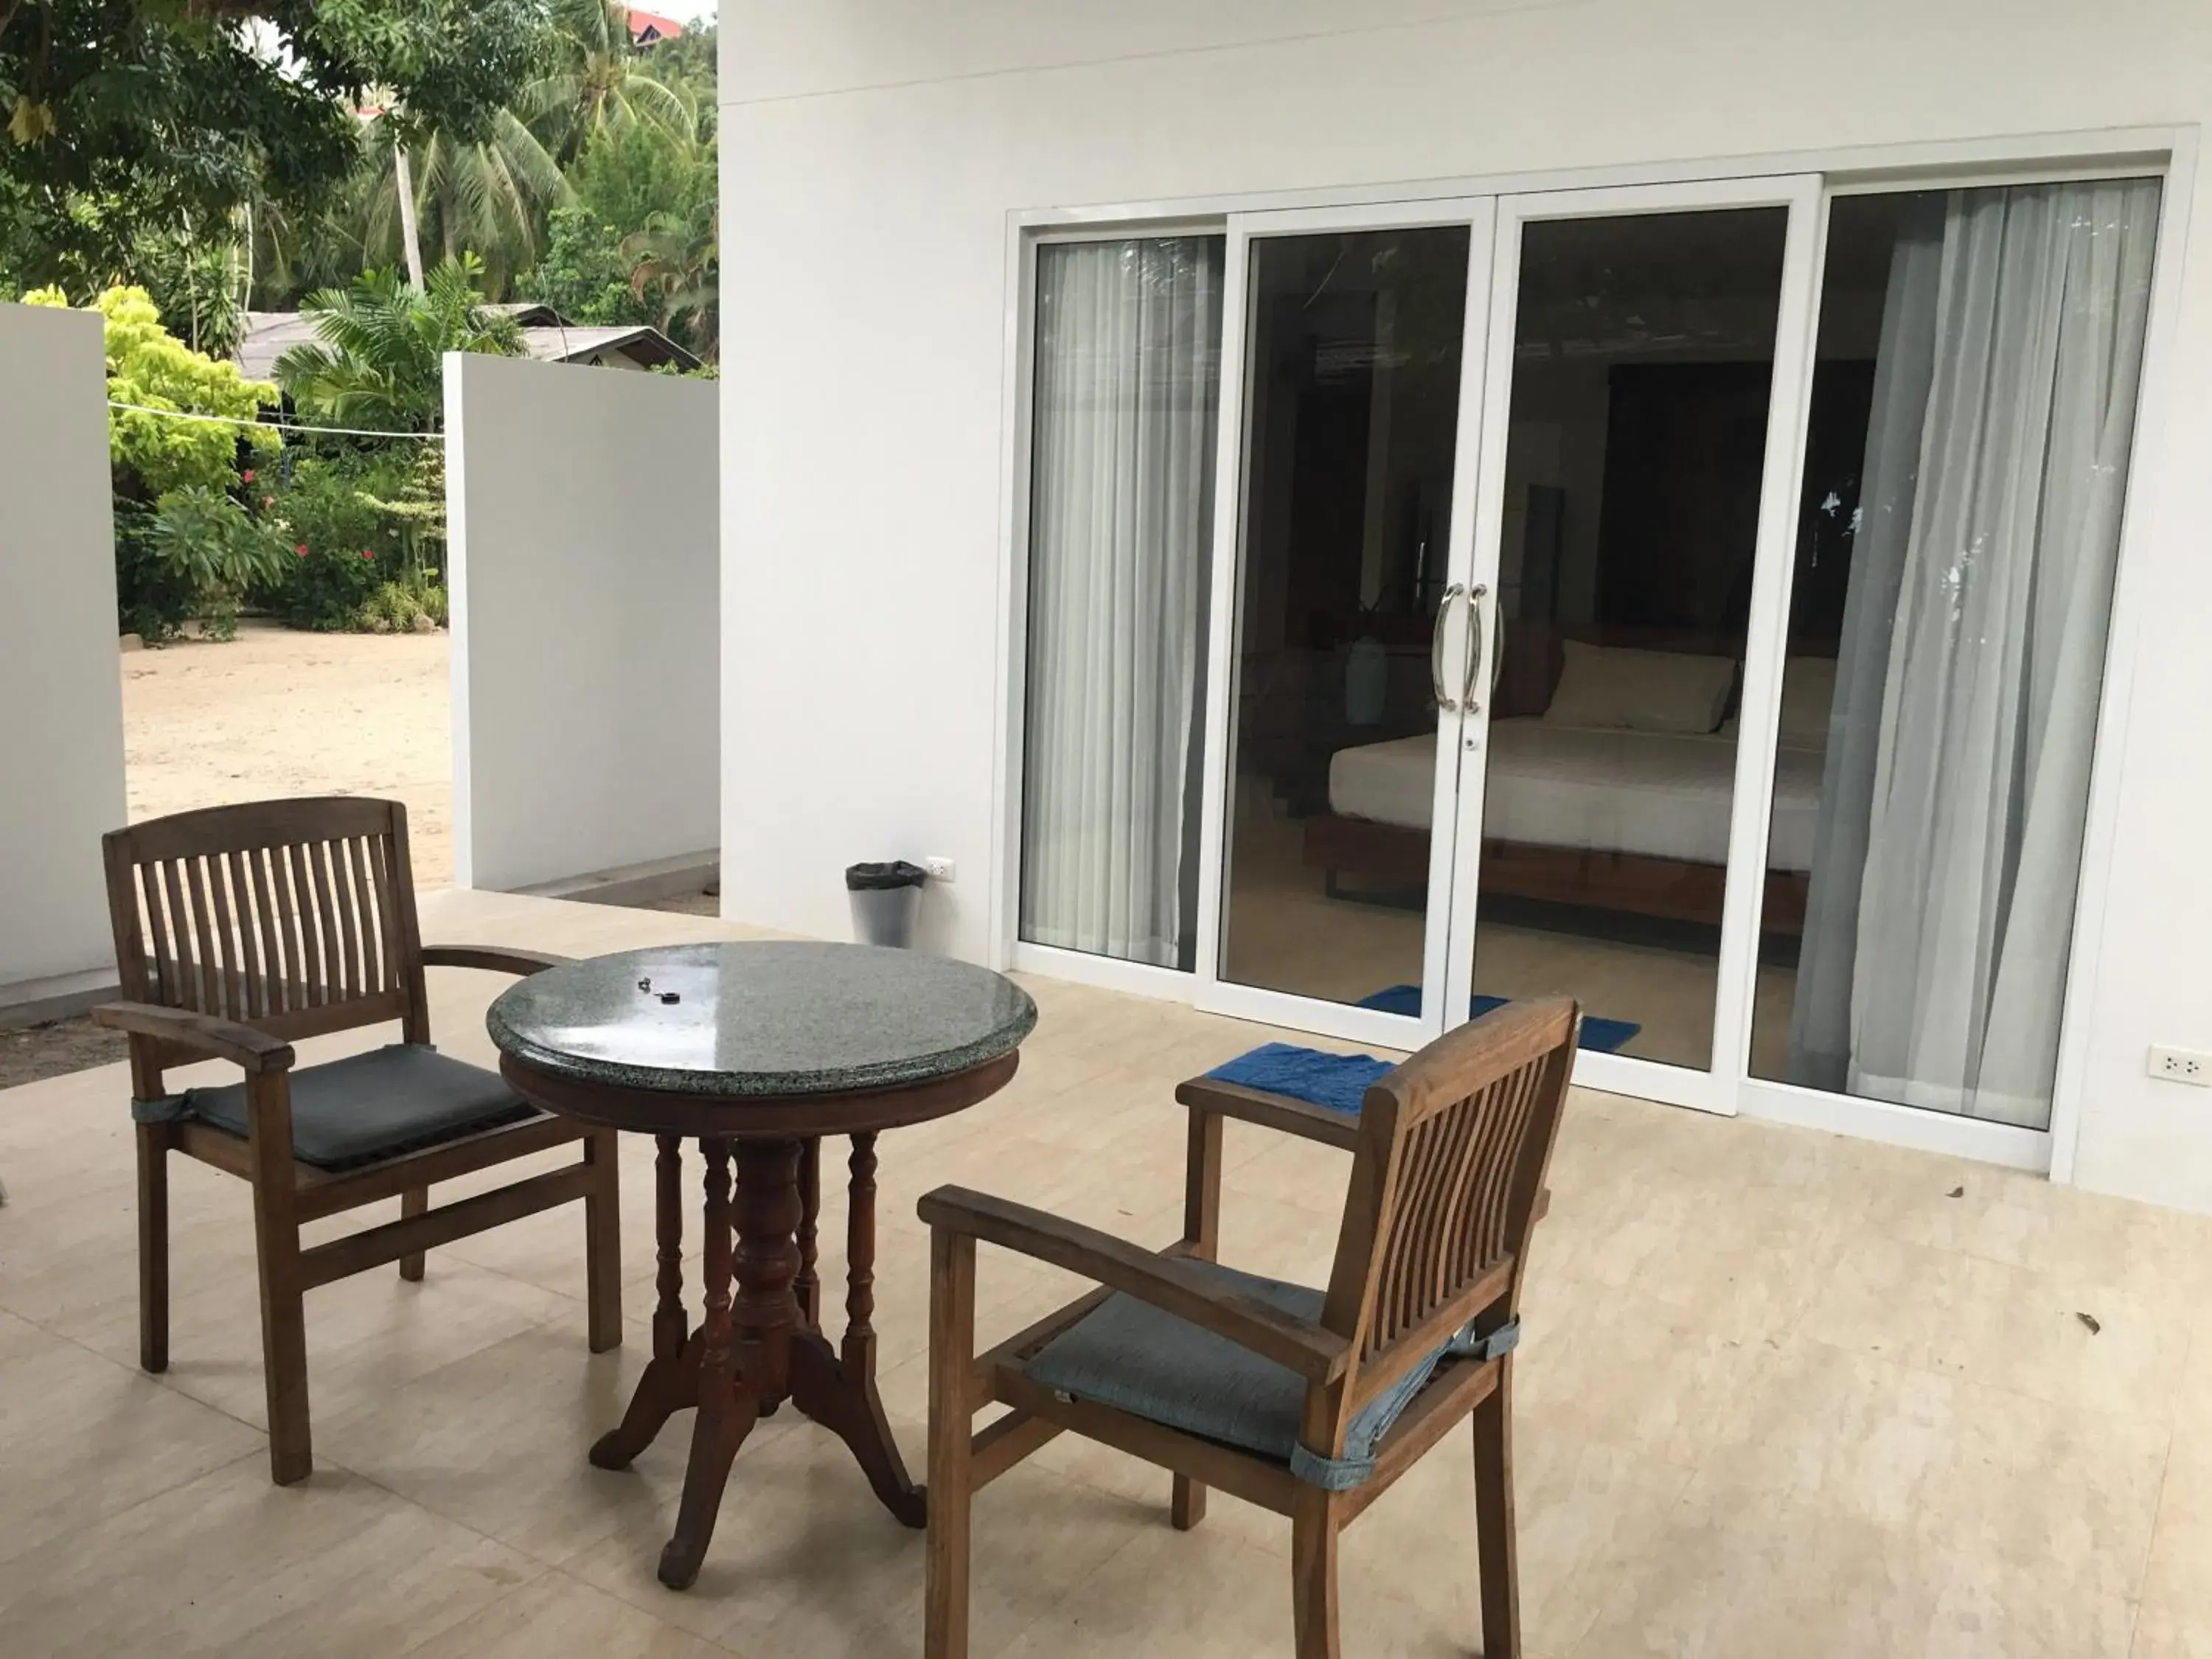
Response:
[[[1489,204],[1230,226],[1212,1006],[1442,1029],[1489,234]]]

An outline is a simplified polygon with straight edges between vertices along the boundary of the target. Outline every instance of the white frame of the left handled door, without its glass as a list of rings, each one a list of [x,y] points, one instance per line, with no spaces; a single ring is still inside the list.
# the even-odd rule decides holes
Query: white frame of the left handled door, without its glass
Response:
[[[1239,628],[1243,626],[1243,524],[1245,524],[1245,383],[1252,363],[1252,239],[1303,237],[1316,232],[1402,230],[1413,226],[1467,226],[1467,321],[1460,358],[1460,425],[1453,436],[1451,526],[1444,557],[1447,593],[1467,584],[1469,535],[1473,529],[1471,480],[1482,451],[1478,416],[1482,409],[1482,305],[1484,276],[1491,270],[1495,197],[1462,197],[1449,201],[1400,201],[1371,208],[1294,208],[1281,212],[1239,212],[1228,221],[1228,281],[1221,307],[1221,425],[1214,462],[1214,560],[1212,602],[1208,613],[1206,677],[1206,818],[1199,827],[1199,962],[1194,1002],[1212,1013],[1241,1020],[1316,1031],[1349,1042],[1374,1042],[1389,1048],[1418,1048],[1440,1035],[1447,1002],[1444,951],[1453,891],[1453,814],[1458,812],[1458,776],[1451,759],[1460,743],[1458,710],[1438,710],[1438,763],[1429,814],[1429,909],[1422,933],[1422,1009],[1418,1018],[1354,1009],[1321,998],[1267,991],[1237,984],[1221,973],[1221,942],[1228,927],[1228,860],[1230,860],[1230,792],[1234,787],[1234,706],[1239,672]],[[1444,604],[1438,615],[1442,633],[1442,679],[1455,686],[1467,664],[1467,617],[1462,606]]]

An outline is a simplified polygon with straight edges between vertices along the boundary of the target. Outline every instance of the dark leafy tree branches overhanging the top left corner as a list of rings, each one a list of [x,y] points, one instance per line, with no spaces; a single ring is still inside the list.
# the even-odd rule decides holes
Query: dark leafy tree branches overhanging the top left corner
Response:
[[[86,294],[142,237],[237,234],[257,195],[343,188],[356,108],[489,137],[538,77],[549,0],[0,0],[0,254]]]

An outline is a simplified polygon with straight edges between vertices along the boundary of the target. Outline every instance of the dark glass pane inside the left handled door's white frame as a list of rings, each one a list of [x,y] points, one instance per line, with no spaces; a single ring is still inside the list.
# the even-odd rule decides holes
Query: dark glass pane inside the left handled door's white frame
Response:
[[[1252,243],[1221,975],[1420,1002],[1467,228]]]

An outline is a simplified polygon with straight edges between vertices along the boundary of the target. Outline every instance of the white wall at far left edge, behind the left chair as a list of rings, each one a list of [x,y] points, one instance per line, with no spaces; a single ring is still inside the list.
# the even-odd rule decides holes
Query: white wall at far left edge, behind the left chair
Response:
[[[113,973],[124,823],[108,374],[91,312],[0,305],[0,1000]]]

